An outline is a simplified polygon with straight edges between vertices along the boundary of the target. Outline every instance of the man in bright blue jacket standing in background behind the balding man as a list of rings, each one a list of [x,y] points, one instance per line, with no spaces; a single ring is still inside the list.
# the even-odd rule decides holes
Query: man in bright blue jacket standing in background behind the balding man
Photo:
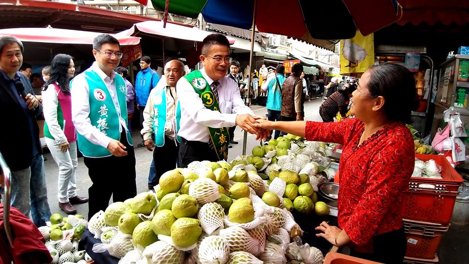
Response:
[[[155,88],[160,80],[160,76],[151,67],[151,58],[143,56],[140,58],[140,68],[135,79],[135,95],[137,97],[137,109],[140,111],[140,129],[143,128],[143,112],[147,105],[151,89]],[[144,147],[145,143],[138,144],[138,147]]]

